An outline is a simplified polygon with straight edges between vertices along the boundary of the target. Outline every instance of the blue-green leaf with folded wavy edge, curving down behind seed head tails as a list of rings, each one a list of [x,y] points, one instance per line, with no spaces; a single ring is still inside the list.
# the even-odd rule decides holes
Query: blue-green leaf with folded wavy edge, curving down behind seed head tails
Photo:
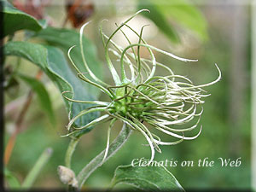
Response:
[[[73,92],[74,99],[96,100],[96,96],[90,91],[88,84],[80,80],[68,66],[65,56],[60,49],[28,42],[9,42],[4,46],[4,54],[16,55],[32,61],[32,63],[36,64],[48,75],[49,79],[57,85],[61,92],[66,90]],[[66,99],[64,99],[64,102],[66,103],[67,112],[72,111],[73,115],[90,107],[88,104],[68,102]],[[75,121],[75,125],[82,126],[87,124],[91,120],[96,119],[98,115],[99,113],[84,115]],[[92,127],[80,131],[76,136],[84,134],[91,129]]]

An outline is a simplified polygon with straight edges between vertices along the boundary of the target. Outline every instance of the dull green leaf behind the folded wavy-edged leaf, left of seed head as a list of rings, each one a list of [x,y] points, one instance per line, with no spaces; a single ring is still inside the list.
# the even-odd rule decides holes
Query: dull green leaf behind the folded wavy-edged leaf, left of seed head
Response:
[[[73,45],[76,45],[75,48],[71,51],[71,57],[74,63],[79,67],[79,70],[87,78],[90,79],[90,76],[86,74],[87,70],[84,67],[84,62],[80,53],[79,48],[79,32],[69,30],[69,29],[58,29],[54,27],[47,27],[44,30],[41,30],[35,35],[36,38],[42,38],[48,44],[53,45],[55,47],[59,47],[63,50],[65,55],[67,55],[67,50],[71,48]],[[96,74],[98,78],[102,78],[102,63],[97,59],[96,47],[94,44],[90,42],[88,38],[83,38],[84,45],[84,55],[85,60],[88,63],[91,71]],[[88,84],[88,88],[93,92],[95,96],[99,96],[100,90],[95,86]]]

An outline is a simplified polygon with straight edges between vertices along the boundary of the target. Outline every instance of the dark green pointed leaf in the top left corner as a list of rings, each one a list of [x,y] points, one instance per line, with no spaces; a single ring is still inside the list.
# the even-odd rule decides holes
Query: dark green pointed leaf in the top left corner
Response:
[[[3,6],[3,9],[0,10],[3,12],[3,34],[0,38],[13,34],[21,29],[38,32],[45,26],[44,23],[39,22],[31,15],[27,15],[19,9],[16,9],[8,1],[0,0],[0,3]]]

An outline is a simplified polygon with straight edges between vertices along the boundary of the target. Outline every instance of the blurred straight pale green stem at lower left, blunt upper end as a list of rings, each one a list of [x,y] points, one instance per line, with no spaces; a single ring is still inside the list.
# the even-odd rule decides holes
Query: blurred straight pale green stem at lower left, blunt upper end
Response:
[[[41,172],[44,165],[49,160],[49,157],[52,154],[52,148],[46,148],[41,154],[41,156],[38,158],[38,161],[36,164],[32,167],[32,170],[28,173],[26,176],[24,182],[22,183],[21,187],[24,189],[29,189],[32,187],[32,184],[34,183],[35,179],[38,177],[38,174]]]

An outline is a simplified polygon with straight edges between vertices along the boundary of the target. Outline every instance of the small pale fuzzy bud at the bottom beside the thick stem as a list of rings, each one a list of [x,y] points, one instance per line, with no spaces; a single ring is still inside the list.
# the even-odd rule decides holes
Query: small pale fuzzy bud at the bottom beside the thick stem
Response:
[[[74,188],[78,188],[78,181],[71,169],[67,168],[66,166],[58,166],[58,174],[62,183],[72,185]]]

